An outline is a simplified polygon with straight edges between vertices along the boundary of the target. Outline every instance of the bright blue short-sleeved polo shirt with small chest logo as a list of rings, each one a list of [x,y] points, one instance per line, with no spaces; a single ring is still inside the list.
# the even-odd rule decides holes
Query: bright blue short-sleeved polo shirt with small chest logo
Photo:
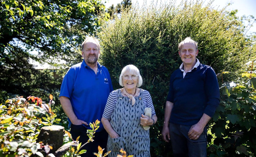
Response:
[[[109,93],[113,91],[109,71],[99,63],[97,65],[95,74],[84,60],[75,64],[67,71],[60,88],[60,97],[68,97],[77,118],[88,124],[101,120]],[[89,125],[85,127],[91,129]],[[102,129],[101,123],[97,132]]]

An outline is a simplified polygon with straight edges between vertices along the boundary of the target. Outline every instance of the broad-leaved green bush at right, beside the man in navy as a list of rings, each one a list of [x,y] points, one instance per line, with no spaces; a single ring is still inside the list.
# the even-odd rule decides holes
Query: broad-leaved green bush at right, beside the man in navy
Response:
[[[247,78],[246,82],[238,82],[239,79],[236,83],[224,82],[220,88],[221,103],[208,132],[210,157],[256,156],[255,63],[255,60],[249,61],[248,69],[244,69],[245,72],[242,73]]]

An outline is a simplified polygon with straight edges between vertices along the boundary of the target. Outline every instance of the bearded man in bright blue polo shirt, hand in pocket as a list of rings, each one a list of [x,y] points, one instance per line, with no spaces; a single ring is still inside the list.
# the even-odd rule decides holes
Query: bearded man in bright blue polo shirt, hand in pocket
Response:
[[[86,135],[86,130],[91,129],[88,124],[101,120],[107,98],[113,90],[109,71],[97,62],[99,55],[100,43],[93,37],[87,37],[82,43],[83,61],[67,71],[60,89],[60,103],[71,125],[72,138],[76,140],[80,136],[82,145],[89,139]],[[107,137],[100,124],[94,141],[82,148],[87,152],[81,156],[94,156],[98,145],[106,148]]]

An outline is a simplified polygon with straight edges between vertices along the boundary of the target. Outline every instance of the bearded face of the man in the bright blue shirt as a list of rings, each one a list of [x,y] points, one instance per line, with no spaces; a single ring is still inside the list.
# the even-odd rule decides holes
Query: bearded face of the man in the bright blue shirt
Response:
[[[82,56],[86,64],[96,64],[100,55],[100,50],[97,48],[97,44],[90,40],[84,43],[82,49]]]

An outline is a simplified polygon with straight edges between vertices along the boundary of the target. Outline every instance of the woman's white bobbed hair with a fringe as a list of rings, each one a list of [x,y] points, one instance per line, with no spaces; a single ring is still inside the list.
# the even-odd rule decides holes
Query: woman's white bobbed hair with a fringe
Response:
[[[136,74],[136,75],[139,76],[139,77],[138,77],[138,81],[137,81],[136,87],[141,87],[143,81],[142,81],[142,77],[141,77],[141,75],[140,75],[140,73],[139,73],[139,69],[138,69],[136,66],[132,65],[132,64],[129,64],[129,65],[125,66],[125,67],[122,69],[122,72],[121,72],[121,74],[120,74],[120,76],[119,76],[119,84],[120,84],[122,87],[124,87],[124,84],[123,84],[123,75],[124,75],[124,73],[127,72],[127,71],[128,71],[130,74]]]

